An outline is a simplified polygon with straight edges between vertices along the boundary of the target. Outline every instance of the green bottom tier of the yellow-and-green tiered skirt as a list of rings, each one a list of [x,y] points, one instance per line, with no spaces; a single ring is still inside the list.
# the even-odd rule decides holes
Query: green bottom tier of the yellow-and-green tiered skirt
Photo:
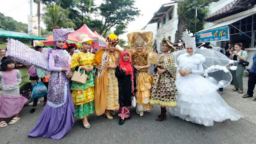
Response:
[[[94,113],[94,100],[92,102],[89,102],[87,104],[81,104],[75,106],[76,113],[74,117],[83,119],[85,116],[91,115]]]

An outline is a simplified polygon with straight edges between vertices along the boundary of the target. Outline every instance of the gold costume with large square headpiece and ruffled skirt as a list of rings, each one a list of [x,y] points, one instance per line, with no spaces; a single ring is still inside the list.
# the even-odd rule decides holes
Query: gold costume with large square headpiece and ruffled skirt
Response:
[[[128,43],[133,49],[133,51],[131,52],[131,56],[132,64],[134,65],[134,67],[147,66],[148,60],[154,61],[157,59],[157,57],[154,56],[154,52],[152,51],[152,32],[138,31],[129,33],[127,36],[129,40]],[[147,44],[145,44],[145,42]],[[138,52],[136,50],[137,45],[143,46],[142,52]],[[137,100],[136,112],[138,114],[140,113],[140,116],[143,116],[143,111],[150,111],[151,109],[149,104],[149,98],[154,77],[148,72],[148,68],[141,68],[140,70],[135,70],[135,96]]]

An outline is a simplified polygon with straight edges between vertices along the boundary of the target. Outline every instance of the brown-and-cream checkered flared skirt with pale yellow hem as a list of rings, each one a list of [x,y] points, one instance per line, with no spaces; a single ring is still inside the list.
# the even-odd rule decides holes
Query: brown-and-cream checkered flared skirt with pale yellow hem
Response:
[[[175,79],[164,72],[164,74],[156,74],[151,90],[150,104],[159,104],[163,107],[176,107],[177,88]]]

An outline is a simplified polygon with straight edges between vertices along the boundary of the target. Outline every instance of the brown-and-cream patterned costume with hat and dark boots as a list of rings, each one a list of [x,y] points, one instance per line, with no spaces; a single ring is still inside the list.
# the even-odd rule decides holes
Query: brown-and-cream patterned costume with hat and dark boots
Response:
[[[154,82],[151,90],[150,104],[159,104],[161,106],[161,115],[157,121],[166,118],[165,107],[176,107],[177,88],[175,84],[177,68],[174,63],[173,51],[176,48],[170,40],[163,39],[163,44],[168,44],[171,50],[168,54],[161,54],[155,67]],[[166,70],[162,74],[157,73],[157,68]]]

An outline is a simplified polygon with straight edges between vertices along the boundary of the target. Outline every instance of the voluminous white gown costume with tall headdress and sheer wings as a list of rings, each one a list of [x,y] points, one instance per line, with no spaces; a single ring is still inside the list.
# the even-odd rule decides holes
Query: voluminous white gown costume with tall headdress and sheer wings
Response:
[[[194,53],[185,52],[178,55],[178,51],[176,53],[177,70],[184,72],[191,70],[191,74],[186,76],[178,74],[177,76],[176,86],[179,94],[177,95],[177,107],[170,108],[171,115],[205,126],[211,126],[214,122],[223,122],[227,119],[239,120],[243,117],[241,113],[230,108],[217,92],[218,84],[225,87],[232,79],[231,77],[228,81],[218,82],[218,77],[221,77],[222,74],[227,75],[226,78],[230,76],[230,72],[225,67],[228,64],[227,57],[214,50],[196,49],[195,40],[189,36],[188,32],[183,33],[182,40],[184,40],[186,48],[193,47]],[[209,53],[208,56],[207,53]],[[205,55],[203,56],[203,54]],[[218,61],[220,65],[212,65]],[[207,66],[211,67],[204,70]],[[218,74],[214,75],[214,73]],[[202,74],[206,78],[201,76]]]

